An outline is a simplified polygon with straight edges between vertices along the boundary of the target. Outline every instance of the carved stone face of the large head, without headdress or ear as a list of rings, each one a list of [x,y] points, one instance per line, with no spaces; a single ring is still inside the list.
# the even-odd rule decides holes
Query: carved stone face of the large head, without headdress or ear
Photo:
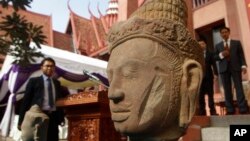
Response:
[[[171,90],[174,71],[171,59],[166,59],[171,55],[159,56],[157,45],[136,38],[111,52],[108,97],[112,120],[121,133],[154,134],[166,126],[178,126],[179,95]]]

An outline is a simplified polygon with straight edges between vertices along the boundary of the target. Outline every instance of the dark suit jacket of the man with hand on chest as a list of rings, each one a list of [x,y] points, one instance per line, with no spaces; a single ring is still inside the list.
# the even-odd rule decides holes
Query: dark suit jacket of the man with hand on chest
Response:
[[[226,58],[220,59],[219,53],[224,50],[223,41],[215,46],[215,60],[219,61],[219,73],[223,73],[229,67],[232,71],[241,71],[241,67],[246,64],[244,52],[240,41],[230,41],[230,64]],[[228,66],[229,65],[229,66]]]

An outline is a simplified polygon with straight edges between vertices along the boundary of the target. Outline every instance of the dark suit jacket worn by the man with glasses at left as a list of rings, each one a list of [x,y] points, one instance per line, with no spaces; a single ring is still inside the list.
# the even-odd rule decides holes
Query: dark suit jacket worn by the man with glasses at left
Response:
[[[62,97],[61,94],[61,84],[58,80],[53,79],[56,92],[56,100]],[[37,104],[42,108],[44,97],[44,80],[43,76],[31,78],[26,86],[25,94],[23,97],[23,102],[19,112],[18,125],[21,125],[24,119],[25,112],[30,109],[34,104]],[[64,121],[64,113],[60,108],[56,108],[56,118],[58,119],[58,125]]]

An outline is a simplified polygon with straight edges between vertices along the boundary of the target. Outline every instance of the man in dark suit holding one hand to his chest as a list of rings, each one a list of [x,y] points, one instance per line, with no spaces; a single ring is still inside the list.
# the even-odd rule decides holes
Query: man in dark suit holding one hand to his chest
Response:
[[[219,73],[225,93],[226,114],[235,114],[231,79],[236,89],[239,112],[240,114],[247,114],[248,106],[243,91],[241,74],[247,72],[247,64],[241,42],[229,38],[230,29],[227,27],[220,29],[220,34],[223,41],[215,47],[215,59],[219,62]]]

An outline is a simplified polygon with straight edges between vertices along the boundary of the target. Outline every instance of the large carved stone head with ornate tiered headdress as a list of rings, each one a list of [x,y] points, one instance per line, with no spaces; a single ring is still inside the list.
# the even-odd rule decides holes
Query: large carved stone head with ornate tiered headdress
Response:
[[[130,141],[178,140],[196,105],[203,55],[183,0],[148,0],[108,35],[110,110]]]

